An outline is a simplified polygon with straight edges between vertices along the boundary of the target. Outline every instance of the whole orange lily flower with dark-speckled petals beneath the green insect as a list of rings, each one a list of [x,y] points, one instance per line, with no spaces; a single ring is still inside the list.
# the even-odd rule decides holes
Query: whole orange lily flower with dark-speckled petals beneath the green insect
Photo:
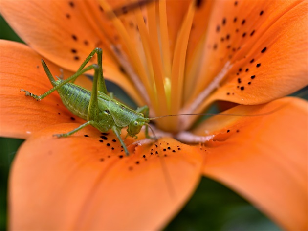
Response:
[[[308,2],[128,4],[1,1],[2,16],[28,44],[0,43],[0,135],[26,139],[10,172],[9,228],[162,229],[203,175],[284,229],[307,230],[307,101],[282,97],[308,84]],[[237,104],[223,113],[242,116],[194,128],[196,116],[158,119],[168,134],[125,139],[128,157],[112,132],[86,127],[54,138],[84,121],[56,92],[37,102],[19,90],[51,88],[42,58],[68,77],[96,46],[105,78],[149,105],[152,117],[200,113],[217,101]],[[84,76],[76,84],[91,86]]]

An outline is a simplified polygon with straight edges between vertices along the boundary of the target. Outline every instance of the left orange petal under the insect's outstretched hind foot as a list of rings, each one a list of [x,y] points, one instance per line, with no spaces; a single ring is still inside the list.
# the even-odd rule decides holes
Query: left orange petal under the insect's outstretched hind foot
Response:
[[[25,89],[43,94],[52,88],[41,64],[42,56],[28,46],[5,40],[0,41],[0,49],[0,136],[25,139],[51,124],[84,121],[66,109],[57,92],[41,102],[20,92]],[[60,76],[59,67],[47,64],[52,74]],[[64,72],[64,76],[71,74]],[[76,84],[90,82],[86,77],[80,78],[84,79],[77,79]]]

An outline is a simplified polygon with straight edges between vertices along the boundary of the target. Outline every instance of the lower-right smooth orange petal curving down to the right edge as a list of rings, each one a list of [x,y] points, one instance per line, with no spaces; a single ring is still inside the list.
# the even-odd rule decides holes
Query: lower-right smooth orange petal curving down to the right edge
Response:
[[[239,192],[286,230],[307,230],[307,101],[283,98],[225,113],[266,115],[215,116],[200,126],[196,134],[215,135],[203,147],[203,173]]]

